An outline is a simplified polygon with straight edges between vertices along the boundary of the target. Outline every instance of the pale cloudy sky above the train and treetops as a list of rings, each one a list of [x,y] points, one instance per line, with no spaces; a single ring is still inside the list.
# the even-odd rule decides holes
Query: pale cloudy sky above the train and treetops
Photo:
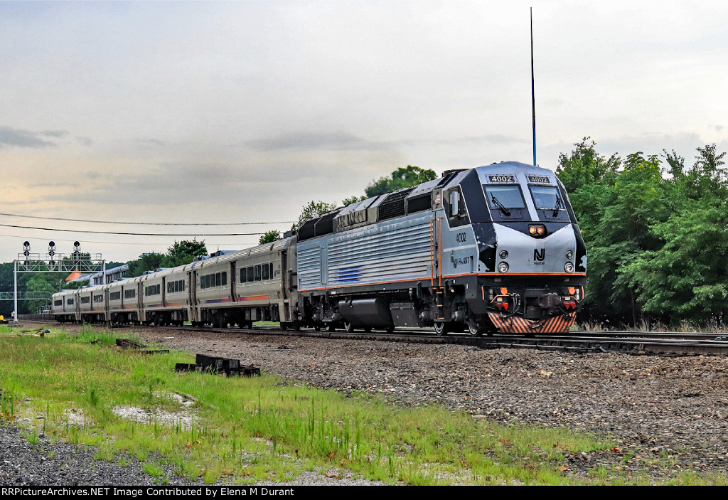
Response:
[[[542,167],[587,135],[728,149],[724,4],[530,4]],[[82,231],[232,250],[258,237],[202,234],[288,229],[407,164],[531,162],[529,51],[521,1],[0,2],[0,261],[188,238]]]

